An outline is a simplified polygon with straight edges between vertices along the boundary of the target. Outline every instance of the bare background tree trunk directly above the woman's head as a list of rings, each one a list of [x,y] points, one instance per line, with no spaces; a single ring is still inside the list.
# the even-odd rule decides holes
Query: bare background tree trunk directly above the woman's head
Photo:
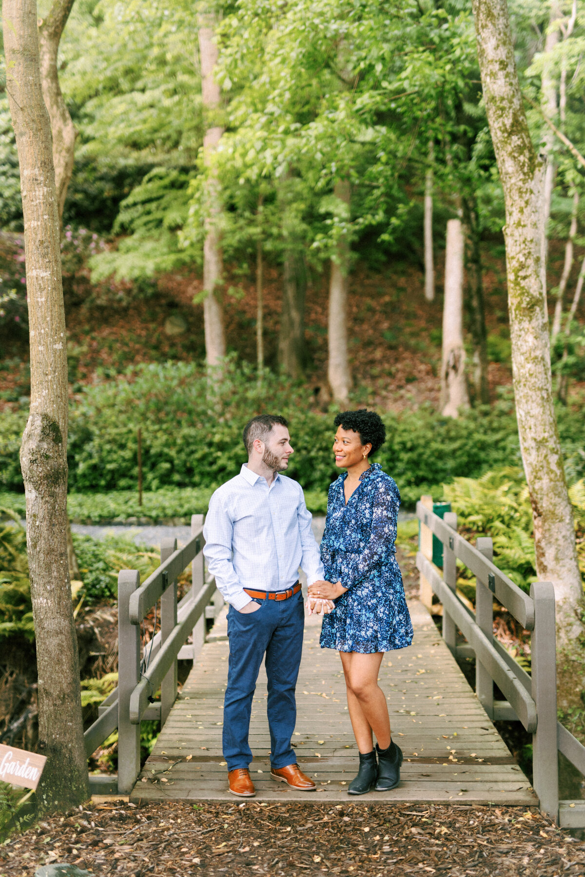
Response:
[[[350,183],[339,180],[335,183],[334,195],[346,205],[349,217],[351,198]],[[329,322],[327,339],[329,359],[327,361],[327,377],[332,389],[333,399],[341,406],[349,401],[349,390],[352,386],[352,375],[347,357],[347,293],[349,289],[349,245],[347,240],[340,239],[337,253],[331,261],[331,278],[329,282]]]

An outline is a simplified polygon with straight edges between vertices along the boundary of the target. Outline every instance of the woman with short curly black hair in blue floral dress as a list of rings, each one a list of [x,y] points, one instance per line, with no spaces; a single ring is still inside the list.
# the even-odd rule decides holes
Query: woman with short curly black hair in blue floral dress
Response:
[[[390,737],[377,680],[384,652],[410,645],[412,624],[395,557],[400,494],[380,465],[370,463],[386,439],[384,424],[366,409],[343,411],[334,423],[335,465],[346,472],[329,488],[321,542],[327,583],[311,585],[309,596],[335,603],[323,618],[321,647],[339,650],[360,751],[360,770],[347,791],[363,795],[400,781],[403,753]]]

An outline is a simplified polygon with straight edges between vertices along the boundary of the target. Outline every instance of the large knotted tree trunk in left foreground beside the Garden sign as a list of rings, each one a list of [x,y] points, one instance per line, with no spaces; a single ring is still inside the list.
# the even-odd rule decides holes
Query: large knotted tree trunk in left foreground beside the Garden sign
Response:
[[[25,220],[31,411],[20,460],[39,671],[37,792],[42,812],[89,797],[67,553],[68,372],[61,230],[51,127],[43,101],[35,0],[4,0],[7,92]]]

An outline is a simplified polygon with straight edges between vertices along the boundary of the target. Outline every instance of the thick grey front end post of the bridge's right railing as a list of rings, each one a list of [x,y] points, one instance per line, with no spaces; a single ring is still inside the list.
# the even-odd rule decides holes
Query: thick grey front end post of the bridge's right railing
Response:
[[[537,726],[532,735],[532,785],[540,809],[555,822],[559,818],[559,761],[557,744],[557,655],[554,588],[550,581],[535,581],[534,631],[531,635],[532,698]]]

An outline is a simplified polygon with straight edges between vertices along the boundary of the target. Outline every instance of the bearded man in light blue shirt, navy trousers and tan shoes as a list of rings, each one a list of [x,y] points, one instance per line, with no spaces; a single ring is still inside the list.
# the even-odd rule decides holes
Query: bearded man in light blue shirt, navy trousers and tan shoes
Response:
[[[265,655],[270,774],[291,788],[316,788],[297,766],[290,738],[304,627],[298,567],[309,584],[323,581],[323,567],[303,489],[279,474],[293,453],[288,425],[284,417],[266,414],[246,424],[247,464],[211,496],[203,528],[207,565],[230,603],[223,747],[230,792],[243,797],[255,794],[248,733]]]

